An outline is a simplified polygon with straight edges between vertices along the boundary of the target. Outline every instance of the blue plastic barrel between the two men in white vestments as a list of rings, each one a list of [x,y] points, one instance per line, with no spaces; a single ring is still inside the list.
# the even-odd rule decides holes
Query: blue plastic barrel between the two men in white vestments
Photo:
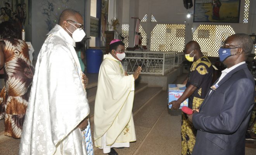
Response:
[[[99,73],[102,62],[102,50],[89,48],[86,50],[87,73]]]

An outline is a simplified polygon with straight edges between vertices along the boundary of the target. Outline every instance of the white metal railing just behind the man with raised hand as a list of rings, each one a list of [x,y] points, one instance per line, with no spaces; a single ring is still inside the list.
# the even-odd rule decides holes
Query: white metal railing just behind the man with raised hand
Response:
[[[160,74],[170,72],[175,65],[175,52],[133,52],[126,51],[123,66],[127,73],[132,74],[138,66],[141,74]]]

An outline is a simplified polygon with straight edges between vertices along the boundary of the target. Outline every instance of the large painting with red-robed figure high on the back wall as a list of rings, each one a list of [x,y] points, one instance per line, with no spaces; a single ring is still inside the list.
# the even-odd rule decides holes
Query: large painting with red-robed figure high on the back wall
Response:
[[[239,23],[240,0],[194,0],[194,22]]]

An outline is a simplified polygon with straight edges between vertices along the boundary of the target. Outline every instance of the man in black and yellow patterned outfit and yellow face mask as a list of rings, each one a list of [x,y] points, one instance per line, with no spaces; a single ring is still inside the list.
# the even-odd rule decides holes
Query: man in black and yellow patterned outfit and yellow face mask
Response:
[[[180,104],[189,98],[189,108],[199,108],[203,102],[213,80],[213,67],[208,57],[204,56],[196,41],[190,41],[185,46],[183,54],[188,61],[193,62],[190,67],[189,76],[183,84],[186,90],[177,101],[172,101],[171,109],[180,108]],[[182,155],[191,155],[195,145],[196,129],[188,120],[187,115],[182,112]]]

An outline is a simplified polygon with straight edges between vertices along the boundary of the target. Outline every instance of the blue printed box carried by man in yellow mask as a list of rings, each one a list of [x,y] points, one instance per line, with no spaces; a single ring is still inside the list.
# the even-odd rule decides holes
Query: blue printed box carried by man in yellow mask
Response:
[[[183,92],[185,91],[186,86],[185,84],[169,84],[168,87],[168,103],[178,100],[180,96],[182,96]],[[189,105],[189,99],[187,98],[184,102],[180,104],[180,109],[185,106],[188,107]],[[169,105],[169,108],[171,108],[172,105]]]

